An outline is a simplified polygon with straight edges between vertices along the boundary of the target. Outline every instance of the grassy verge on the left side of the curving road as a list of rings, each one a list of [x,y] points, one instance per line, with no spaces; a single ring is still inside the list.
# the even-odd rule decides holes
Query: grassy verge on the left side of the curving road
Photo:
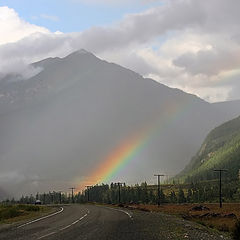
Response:
[[[25,204],[0,204],[0,224],[10,224],[35,218],[52,211],[51,207]]]

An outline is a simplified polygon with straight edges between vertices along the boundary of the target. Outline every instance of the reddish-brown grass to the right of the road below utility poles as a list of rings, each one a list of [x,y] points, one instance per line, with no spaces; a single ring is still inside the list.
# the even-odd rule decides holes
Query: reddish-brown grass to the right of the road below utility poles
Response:
[[[195,206],[205,206],[209,210],[194,211]],[[129,205],[132,209],[143,211],[162,212],[171,215],[177,215],[184,219],[200,223],[206,227],[217,229],[221,232],[232,233],[235,225],[240,219],[240,204],[225,203],[223,208],[219,208],[218,204],[164,204],[158,207],[157,205]]]

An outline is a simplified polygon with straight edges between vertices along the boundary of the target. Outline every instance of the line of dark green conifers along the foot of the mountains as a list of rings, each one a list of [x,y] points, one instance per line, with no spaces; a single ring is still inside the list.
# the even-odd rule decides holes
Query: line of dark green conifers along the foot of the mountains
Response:
[[[160,202],[163,203],[201,203],[217,202],[219,196],[218,181],[205,181],[190,184],[164,184],[160,189]],[[223,198],[225,202],[240,200],[239,181],[225,182],[223,184]],[[146,182],[127,186],[118,183],[92,186],[82,192],[72,194],[62,192],[37,193],[35,196],[22,196],[19,200],[6,200],[5,202],[18,202],[34,204],[40,200],[42,204],[67,203],[107,203],[107,204],[157,204],[158,190],[156,185]]]

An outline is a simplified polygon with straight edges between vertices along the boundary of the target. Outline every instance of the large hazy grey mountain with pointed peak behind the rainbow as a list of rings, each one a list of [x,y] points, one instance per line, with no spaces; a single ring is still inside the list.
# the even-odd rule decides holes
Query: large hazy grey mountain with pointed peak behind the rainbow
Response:
[[[30,67],[39,73],[0,82],[0,187],[14,195],[77,186],[138,135],[144,144],[112,181],[175,174],[211,129],[240,113],[85,50]]]

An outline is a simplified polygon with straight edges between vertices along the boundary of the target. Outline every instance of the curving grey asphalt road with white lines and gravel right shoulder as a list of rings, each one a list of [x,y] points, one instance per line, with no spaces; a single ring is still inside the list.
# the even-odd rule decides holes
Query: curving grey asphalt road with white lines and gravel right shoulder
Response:
[[[226,240],[203,226],[162,213],[70,205],[0,231],[1,240]]]

